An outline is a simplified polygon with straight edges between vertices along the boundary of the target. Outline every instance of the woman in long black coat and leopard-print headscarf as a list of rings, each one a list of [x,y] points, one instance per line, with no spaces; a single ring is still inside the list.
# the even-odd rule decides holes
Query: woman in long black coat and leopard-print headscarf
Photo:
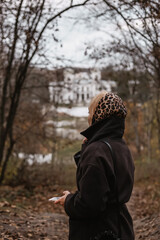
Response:
[[[89,128],[77,164],[77,191],[64,191],[56,203],[64,205],[69,216],[69,240],[90,240],[105,230],[119,234],[116,202],[118,187],[121,239],[133,240],[132,218],[125,205],[129,201],[134,181],[134,164],[123,140],[127,111],[120,97],[102,91],[90,103]],[[115,176],[111,145],[116,156]]]

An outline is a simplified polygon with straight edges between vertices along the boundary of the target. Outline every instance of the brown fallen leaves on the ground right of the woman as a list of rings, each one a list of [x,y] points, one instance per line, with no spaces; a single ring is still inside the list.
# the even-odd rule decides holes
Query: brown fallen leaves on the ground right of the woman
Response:
[[[157,187],[157,186],[156,186]],[[135,187],[129,208],[133,217],[136,240],[160,239],[160,201],[155,185],[140,184]]]

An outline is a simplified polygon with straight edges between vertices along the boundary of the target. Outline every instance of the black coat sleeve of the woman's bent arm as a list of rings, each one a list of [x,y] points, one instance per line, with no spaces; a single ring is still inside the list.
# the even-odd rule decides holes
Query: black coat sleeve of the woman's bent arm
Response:
[[[91,163],[83,167],[79,189],[80,191],[69,194],[66,198],[64,207],[69,217],[92,218],[105,210],[110,189],[107,177],[101,168]]]

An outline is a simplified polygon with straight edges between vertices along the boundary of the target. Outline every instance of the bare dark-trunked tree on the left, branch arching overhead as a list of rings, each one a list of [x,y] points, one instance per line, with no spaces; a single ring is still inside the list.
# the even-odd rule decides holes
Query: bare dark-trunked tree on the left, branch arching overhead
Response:
[[[14,121],[27,71],[38,54],[44,56],[44,32],[50,27],[54,34],[63,13],[87,2],[0,1],[0,183],[16,142]]]

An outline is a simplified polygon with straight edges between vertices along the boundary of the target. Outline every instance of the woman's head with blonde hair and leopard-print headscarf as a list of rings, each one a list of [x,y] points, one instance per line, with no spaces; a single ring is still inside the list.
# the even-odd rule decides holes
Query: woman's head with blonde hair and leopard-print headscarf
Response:
[[[88,122],[91,125],[111,116],[125,118],[126,115],[127,110],[122,99],[114,93],[102,91],[91,100]]]

